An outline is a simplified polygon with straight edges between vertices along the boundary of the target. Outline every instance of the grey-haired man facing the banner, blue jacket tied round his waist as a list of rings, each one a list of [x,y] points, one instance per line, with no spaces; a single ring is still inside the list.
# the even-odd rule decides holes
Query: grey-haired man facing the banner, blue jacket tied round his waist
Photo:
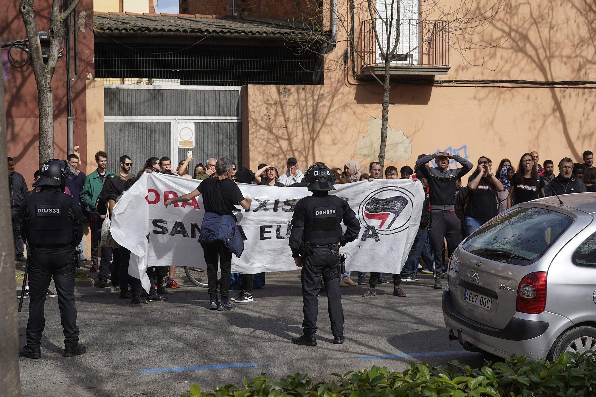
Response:
[[[211,159],[209,159],[211,160]],[[250,209],[249,197],[243,197],[238,185],[229,179],[232,175],[232,160],[222,157],[213,167],[217,176],[207,178],[191,193],[167,200],[164,204],[185,203],[203,194],[205,215],[201,224],[198,242],[203,247],[207,263],[207,282],[209,283],[209,309],[226,311],[236,308],[229,303],[229,283],[232,278],[232,253],[238,258],[244,250],[244,241],[236,226],[235,205]],[[218,261],[221,267],[221,284],[218,299]]]

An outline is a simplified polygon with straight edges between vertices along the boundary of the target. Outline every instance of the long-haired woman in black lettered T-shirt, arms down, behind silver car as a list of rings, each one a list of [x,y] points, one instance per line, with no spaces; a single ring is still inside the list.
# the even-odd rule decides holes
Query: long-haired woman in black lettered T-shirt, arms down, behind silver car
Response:
[[[536,200],[540,197],[540,191],[543,187],[544,181],[536,173],[532,155],[524,153],[517,166],[517,172],[511,178],[507,208],[509,209],[519,203]]]

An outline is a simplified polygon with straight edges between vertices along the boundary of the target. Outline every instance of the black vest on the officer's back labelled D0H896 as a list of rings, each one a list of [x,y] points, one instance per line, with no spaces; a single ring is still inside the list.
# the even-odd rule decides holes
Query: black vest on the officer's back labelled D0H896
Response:
[[[342,199],[337,196],[305,197],[303,240],[311,244],[339,243],[342,238]]]

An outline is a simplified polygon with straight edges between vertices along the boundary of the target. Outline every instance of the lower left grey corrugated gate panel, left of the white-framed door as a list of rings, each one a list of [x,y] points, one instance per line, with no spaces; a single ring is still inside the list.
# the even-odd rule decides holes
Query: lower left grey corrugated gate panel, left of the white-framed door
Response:
[[[119,172],[120,156],[123,154],[131,157],[131,172],[135,175],[149,157],[170,156],[172,144],[169,122],[108,122],[104,126],[107,168],[110,172]]]

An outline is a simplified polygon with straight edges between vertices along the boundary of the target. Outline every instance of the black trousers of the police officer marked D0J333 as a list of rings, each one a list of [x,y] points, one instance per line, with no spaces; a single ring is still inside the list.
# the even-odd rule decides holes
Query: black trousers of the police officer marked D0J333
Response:
[[[76,325],[75,273],[71,259],[72,248],[35,248],[29,258],[29,322],[25,338],[27,345],[39,346],[44,333],[44,306],[49,282],[54,277],[60,323],[64,328],[64,345],[79,343],[79,327]]]

